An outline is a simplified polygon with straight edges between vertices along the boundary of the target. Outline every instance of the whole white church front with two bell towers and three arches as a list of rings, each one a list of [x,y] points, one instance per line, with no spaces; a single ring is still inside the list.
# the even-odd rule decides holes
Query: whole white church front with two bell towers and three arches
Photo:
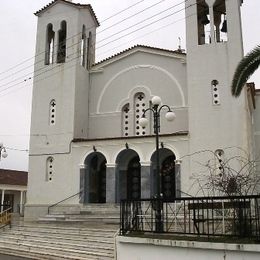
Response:
[[[140,118],[154,96],[176,114],[168,122],[167,109],[161,111],[159,163],[167,199],[196,193],[191,177],[199,168],[190,154],[239,147],[253,158],[257,96],[245,90],[235,99],[230,91],[243,56],[241,4],[186,1],[187,54],[138,45],[98,63],[99,22],[90,5],[55,0],[36,12],[39,77],[25,217],[42,216],[69,197],[64,204],[75,208],[153,197],[153,118],[146,127]]]

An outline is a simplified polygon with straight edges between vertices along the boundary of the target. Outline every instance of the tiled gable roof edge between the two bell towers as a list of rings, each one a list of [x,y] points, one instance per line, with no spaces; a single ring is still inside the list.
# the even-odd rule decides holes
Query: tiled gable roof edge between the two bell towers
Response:
[[[137,51],[150,51],[150,52],[160,52],[160,53],[163,53],[163,54],[169,54],[169,55],[172,55],[172,54],[176,54],[176,55],[181,55],[183,56],[183,58],[186,57],[186,53],[182,52],[181,50],[168,50],[168,49],[162,49],[162,48],[157,48],[157,47],[151,47],[151,46],[147,46],[147,45],[140,45],[140,44],[137,44],[137,45],[134,45],[126,50],[123,50],[121,52],[118,52],[106,59],[103,59],[97,63],[94,64],[94,66],[96,65],[100,65],[100,64],[103,64],[103,63],[106,63],[106,62],[113,62],[114,59],[118,59],[118,58],[121,58],[121,57],[124,57],[125,55],[127,54],[130,54],[130,53],[134,53],[134,52],[137,52]]]

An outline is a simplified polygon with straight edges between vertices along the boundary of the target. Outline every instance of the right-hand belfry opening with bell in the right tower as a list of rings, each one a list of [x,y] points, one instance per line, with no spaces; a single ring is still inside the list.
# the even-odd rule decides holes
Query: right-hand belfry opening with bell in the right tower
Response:
[[[213,6],[216,42],[227,41],[226,1],[216,0]]]

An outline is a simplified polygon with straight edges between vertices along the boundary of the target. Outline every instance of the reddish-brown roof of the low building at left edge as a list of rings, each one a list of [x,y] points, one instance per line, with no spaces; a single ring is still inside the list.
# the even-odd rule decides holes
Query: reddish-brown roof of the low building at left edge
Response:
[[[0,169],[0,184],[27,186],[28,172]]]

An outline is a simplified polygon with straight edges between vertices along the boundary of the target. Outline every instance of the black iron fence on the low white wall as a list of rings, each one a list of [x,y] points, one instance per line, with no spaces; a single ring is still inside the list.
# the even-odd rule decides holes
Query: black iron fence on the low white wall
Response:
[[[260,240],[260,195],[121,201],[121,234],[163,233],[232,236]]]

